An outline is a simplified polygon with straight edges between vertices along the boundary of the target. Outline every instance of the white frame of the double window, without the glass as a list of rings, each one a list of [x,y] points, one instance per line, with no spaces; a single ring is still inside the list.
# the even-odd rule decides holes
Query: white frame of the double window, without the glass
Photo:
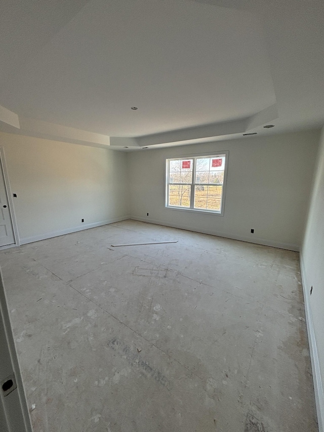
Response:
[[[227,167],[228,167],[228,150],[225,151],[217,151],[213,153],[195,153],[195,154],[187,154],[185,156],[180,155],[176,158],[166,158],[166,169],[165,169],[165,207],[170,210],[178,210],[182,212],[194,212],[194,213],[204,213],[209,215],[216,216],[224,216],[225,210],[225,193],[226,193],[226,180],[227,180]],[[225,167],[224,167],[224,181],[223,183],[199,183],[199,186],[217,186],[222,185],[222,198],[221,198],[221,209],[217,210],[207,210],[207,209],[195,209],[194,208],[194,190],[197,183],[195,183],[196,177],[196,160],[200,158],[225,158]],[[191,180],[191,190],[190,190],[190,207],[179,207],[179,206],[170,206],[169,205],[169,179],[170,179],[170,161],[187,161],[188,159],[193,159],[193,170],[192,170],[192,180]],[[182,183],[175,183],[182,184]],[[189,183],[185,183],[189,184]]]

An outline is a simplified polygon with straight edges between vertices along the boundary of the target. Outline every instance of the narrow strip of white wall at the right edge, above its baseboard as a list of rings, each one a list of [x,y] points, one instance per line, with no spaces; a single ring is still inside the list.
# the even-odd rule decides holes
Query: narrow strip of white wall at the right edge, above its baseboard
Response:
[[[301,248],[301,267],[310,343],[313,349],[313,375],[319,423],[324,430],[324,128]],[[310,295],[310,288],[313,287]],[[317,388],[316,388],[317,387]]]

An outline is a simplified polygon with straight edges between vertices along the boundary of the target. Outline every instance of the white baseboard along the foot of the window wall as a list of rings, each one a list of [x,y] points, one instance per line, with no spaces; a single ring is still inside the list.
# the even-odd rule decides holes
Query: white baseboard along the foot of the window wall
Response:
[[[269,241],[266,239],[260,239],[258,237],[254,237],[253,239],[251,239],[250,237],[244,237],[243,235],[231,234],[229,232],[218,232],[218,231],[211,231],[208,229],[197,229],[196,227],[192,227],[192,226],[188,226],[188,225],[182,225],[182,224],[177,224],[177,223],[173,223],[173,224],[170,223],[169,224],[169,223],[161,222],[161,221],[155,220],[155,219],[147,219],[147,218],[133,217],[133,216],[130,217],[130,219],[138,220],[141,222],[154,223],[156,225],[170,226],[172,228],[186,229],[188,231],[193,231],[193,232],[201,232],[203,234],[216,235],[216,237],[224,237],[225,239],[239,240],[241,242],[248,242],[248,243],[253,243],[256,245],[270,246],[273,248],[286,249],[289,251],[299,252],[299,245],[294,245],[294,244],[290,244],[290,243],[273,242],[273,241]]]

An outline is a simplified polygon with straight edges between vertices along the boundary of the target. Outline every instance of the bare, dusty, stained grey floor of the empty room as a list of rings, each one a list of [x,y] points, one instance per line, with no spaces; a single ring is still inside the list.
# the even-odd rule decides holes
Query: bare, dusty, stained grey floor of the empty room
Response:
[[[298,259],[131,220],[2,251],[34,431],[317,431]]]

